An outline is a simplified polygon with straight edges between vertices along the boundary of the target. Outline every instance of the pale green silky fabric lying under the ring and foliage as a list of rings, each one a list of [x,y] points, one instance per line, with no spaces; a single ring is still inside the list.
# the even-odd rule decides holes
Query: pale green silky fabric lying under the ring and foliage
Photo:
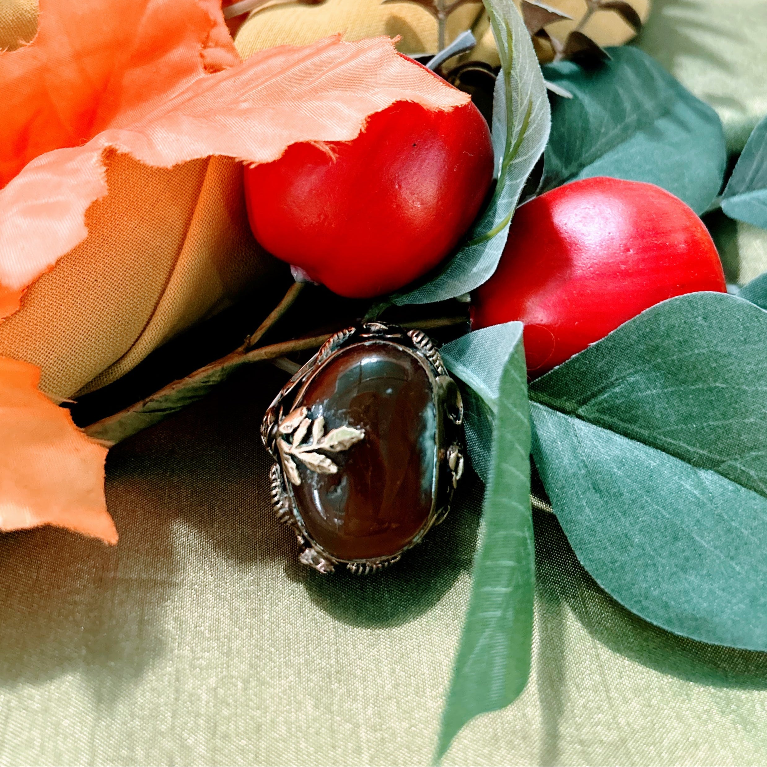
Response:
[[[655,0],[640,39],[719,110],[732,150],[767,110],[765,26],[762,0]],[[730,235],[731,274],[767,268],[764,232]],[[480,488],[466,483],[448,520],[390,571],[301,567],[258,438],[284,380],[242,371],[111,451],[117,548],[55,529],[0,538],[0,762],[430,762]],[[767,761],[767,653],[633,616],[550,515],[535,514],[535,539],[528,686],[469,723],[445,764]]]

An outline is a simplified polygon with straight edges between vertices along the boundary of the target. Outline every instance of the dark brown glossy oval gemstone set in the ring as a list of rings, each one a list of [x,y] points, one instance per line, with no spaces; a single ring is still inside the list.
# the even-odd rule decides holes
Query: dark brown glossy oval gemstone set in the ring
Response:
[[[423,364],[403,347],[369,341],[342,349],[300,397],[324,433],[364,433],[326,453],[334,472],[295,461],[298,512],[311,538],[342,560],[395,555],[418,535],[434,501],[436,408]],[[308,427],[311,428],[311,427]]]

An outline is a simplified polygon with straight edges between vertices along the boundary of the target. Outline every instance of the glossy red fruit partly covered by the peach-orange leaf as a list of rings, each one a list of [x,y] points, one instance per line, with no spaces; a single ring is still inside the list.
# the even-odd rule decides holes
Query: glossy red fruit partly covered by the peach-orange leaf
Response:
[[[332,154],[331,154],[332,153]],[[245,169],[255,238],[350,298],[401,288],[456,246],[492,183],[492,143],[473,104],[400,101],[353,141],[288,146]]]

